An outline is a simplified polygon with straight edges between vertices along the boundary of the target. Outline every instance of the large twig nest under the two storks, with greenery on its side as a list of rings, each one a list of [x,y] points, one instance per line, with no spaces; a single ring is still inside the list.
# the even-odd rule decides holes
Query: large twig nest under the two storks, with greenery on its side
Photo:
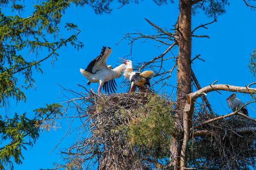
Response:
[[[76,111],[83,118],[81,128],[87,137],[79,138],[65,153],[73,167],[149,170],[162,166],[154,158],[169,155],[170,136],[175,133],[173,103],[168,98],[148,93],[98,95],[91,91],[80,99]]]

